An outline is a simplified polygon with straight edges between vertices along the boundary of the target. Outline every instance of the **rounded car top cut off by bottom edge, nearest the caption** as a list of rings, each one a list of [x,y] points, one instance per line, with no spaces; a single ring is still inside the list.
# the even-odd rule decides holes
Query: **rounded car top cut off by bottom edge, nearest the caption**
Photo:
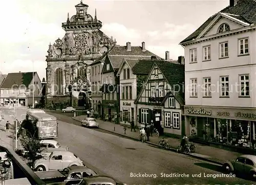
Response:
[[[117,185],[121,183],[117,183],[117,181],[110,177],[110,176],[103,176],[103,175],[98,175],[98,176],[91,176],[91,177],[86,177],[83,178],[79,185]]]

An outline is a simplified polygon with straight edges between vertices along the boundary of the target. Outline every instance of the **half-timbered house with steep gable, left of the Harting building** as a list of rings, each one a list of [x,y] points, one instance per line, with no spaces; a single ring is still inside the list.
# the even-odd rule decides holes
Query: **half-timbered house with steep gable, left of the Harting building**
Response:
[[[154,123],[160,134],[184,133],[184,65],[155,62],[135,100],[141,127]]]

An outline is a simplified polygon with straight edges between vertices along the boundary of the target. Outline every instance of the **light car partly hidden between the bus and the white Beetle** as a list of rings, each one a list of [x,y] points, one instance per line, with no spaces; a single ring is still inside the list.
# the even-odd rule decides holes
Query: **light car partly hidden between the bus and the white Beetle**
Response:
[[[69,147],[60,145],[55,140],[41,140],[40,143],[42,143],[43,147],[45,148],[45,153],[47,156],[49,156],[53,151],[68,151]]]

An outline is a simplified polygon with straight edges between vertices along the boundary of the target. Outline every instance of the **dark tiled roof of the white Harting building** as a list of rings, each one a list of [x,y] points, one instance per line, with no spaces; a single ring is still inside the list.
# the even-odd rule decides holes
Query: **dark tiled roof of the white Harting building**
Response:
[[[256,23],[255,12],[256,12],[256,2],[254,0],[239,0],[237,1],[236,6],[233,6],[233,7],[228,6],[223,10],[221,10],[219,13],[225,13],[226,15],[229,15],[233,18],[236,18],[248,24],[252,24],[252,23]],[[209,17],[195,32],[193,32],[187,38],[181,41],[180,44],[196,39],[201,34],[201,32],[203,32],[205,28],[211,23],[211,21],[214,20],[216,16],[219,15],[219,13],[216,13],[215,15],[212,15],[211,17]]]

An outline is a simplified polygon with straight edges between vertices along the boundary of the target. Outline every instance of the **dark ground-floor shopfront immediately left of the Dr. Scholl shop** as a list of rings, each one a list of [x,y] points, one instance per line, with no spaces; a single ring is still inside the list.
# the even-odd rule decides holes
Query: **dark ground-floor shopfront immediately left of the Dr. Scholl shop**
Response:
[[[117,101],[116,100],[102,100],[102,112],[105,121],[115,121],[117,113]]]

